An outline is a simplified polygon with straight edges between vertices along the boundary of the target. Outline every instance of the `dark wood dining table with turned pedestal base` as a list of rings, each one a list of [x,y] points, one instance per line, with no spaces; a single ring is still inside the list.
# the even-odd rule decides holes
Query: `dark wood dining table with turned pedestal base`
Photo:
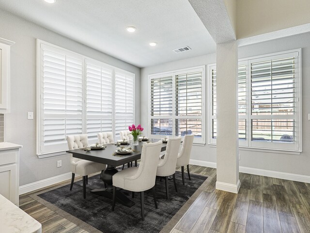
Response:
[[[159,141],[160,139],[152,139],[154,142]],[[134,146],[132,149],[134,152],[128,155],[118,155],[115,154],[115,150],[117,147],[128,147],[129,145],[116,145],[116,143],[107,144],[105,149],[102,150],[91,150],[86,151],[84,149],[76,149],[76,150],[67,150],[67,153],[71,153],[73,157],[78,159],[89,160],[97,163],[106,164],[107,168],[102,172],[101,179],[104,183],[106,183],[106,188],[93,189],[91,193],[97,194],[100,196],[107,197],[112,199],[113,193],[113,183],[112,176],[118,172],[116,166],[121,166],[123,164],[128,164],[132,161],[138,160],[141,158],[142,144],[145,141],[140,141],[138,146]],[[161,151],[165,151],[167,147],[167,143],[162,144]],[[128,199],[123,193],[120,191],[116,192],[116,200],[128,207],[131,207],[135,204],[134,201]]]

